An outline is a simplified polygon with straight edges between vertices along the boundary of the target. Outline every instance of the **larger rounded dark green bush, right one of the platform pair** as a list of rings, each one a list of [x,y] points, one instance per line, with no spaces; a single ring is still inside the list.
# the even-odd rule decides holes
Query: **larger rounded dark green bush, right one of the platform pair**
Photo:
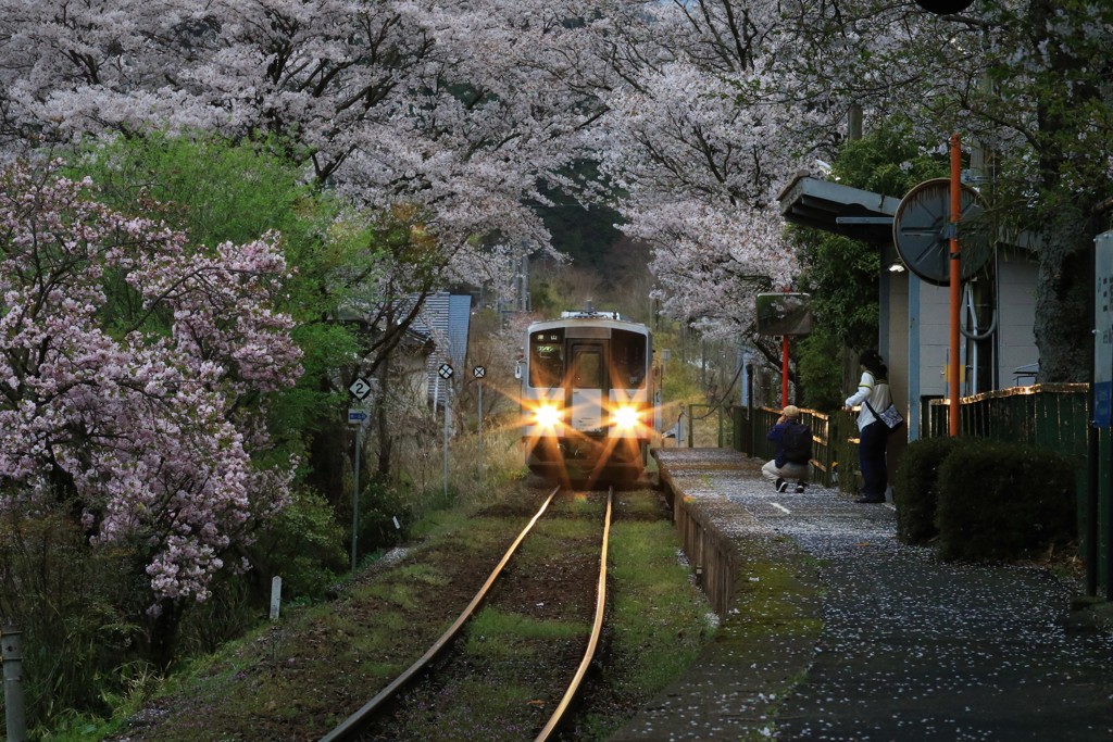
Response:
[[[1015,558],[1076,535],[1074,467],[1020,444],[963,438],[939,467],[943,558]]]

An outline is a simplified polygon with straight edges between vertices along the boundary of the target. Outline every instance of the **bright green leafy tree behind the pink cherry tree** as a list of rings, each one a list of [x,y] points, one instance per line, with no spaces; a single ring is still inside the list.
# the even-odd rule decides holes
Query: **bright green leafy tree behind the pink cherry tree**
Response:
[[[100,141],[72,168],[93,179],[100,197],[125,212],[158,216],[195,245],[246,243],[282,235],[294,270],[279,309],[299,324],[294,340],[305,373],[273,405],[272,428],[283,457],[305,451],[305,437],[335,419],[344,397],[329,375],[357,344],[332,321],[347,298],[343,276],[371,275],[378,259],[368,231],[341,205],[301,181],[279,140],[232,142],[204,133]]]

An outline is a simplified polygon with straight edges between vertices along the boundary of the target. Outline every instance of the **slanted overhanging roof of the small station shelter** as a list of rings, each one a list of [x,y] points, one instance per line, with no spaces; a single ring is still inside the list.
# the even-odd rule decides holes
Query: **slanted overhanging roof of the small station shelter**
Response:
[[[893,241],[893,215],[899,198],[851,188],[799,172],[780,195],[785,220],[866,243]]]

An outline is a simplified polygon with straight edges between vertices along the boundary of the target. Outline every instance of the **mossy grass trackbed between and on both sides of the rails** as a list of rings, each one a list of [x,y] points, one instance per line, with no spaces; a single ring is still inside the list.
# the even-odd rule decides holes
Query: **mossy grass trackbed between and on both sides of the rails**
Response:
[[[431,514],[421,542],[400,562],[361,574],[328,604],[286,610],[279,622],[195,662],[129,722],[117,719],[115,734],[106,736],[100,726],[52,739],[319,739],[405,670],[459,615],[540,496],[515,492],[479,512]],[[577,556],[590,553],[599,535],[601,508],[593,498],[560,503],[552,528],[523,558],[565,571],[594,570],[591,557]],[[713,632],[707,602],[677,558],[678,538],[659,494],[632,491],[618,499],[609,629],[568,740],[604,740],[674,680]],[[534,601],[529,611],[485,605],[454,650],[465,657],[464,671],[424,691],[412,706],[413,719],[392,739],[522,739],[529,735],[523,729],[533,729],[529,725],[539,719],[543,723],[552,699],[536,691],[534,676],[548,671],[554,656],[574,667],[593,610],[584,605],[579,617],[567,617],[559,603],[593,597],[560,590],[551,603]],[[492,667],[498,669],[493,684],[483,679]],[[446,703],[450,699],[466,699],[471,711],[430,711],[456,705]],[[508,715],[505,709],[515,712]],[[465,734],[480,714],[505,721],[499,729],[479,725]]]

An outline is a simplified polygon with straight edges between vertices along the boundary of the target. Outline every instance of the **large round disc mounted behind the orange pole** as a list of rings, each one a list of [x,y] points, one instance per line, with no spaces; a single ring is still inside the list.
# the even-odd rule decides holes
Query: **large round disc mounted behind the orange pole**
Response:
[[[989,220],[978,192],[964,185],[959,199],[958,249],[967,279],[993,253]],[[936,286],[951,284],[951,181],[925,180],[900,199],[893,217],[893,243],[908,269]]]

